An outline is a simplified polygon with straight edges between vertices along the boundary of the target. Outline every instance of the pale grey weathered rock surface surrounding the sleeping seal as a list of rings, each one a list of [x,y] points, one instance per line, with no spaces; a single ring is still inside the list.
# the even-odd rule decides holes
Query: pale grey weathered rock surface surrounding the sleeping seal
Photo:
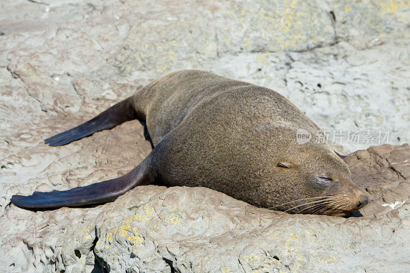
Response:
[[[403,0],[0,2],[0,270],[409,271],[408,145],[345,158],[371,194],[357,218],[185,187],[138,187],[88,208],[10,204],[131,170],[151,151],[137,120],[66,146],[43,139],[179,69],[276,90],[325,130],[410,142],[409,24]]]

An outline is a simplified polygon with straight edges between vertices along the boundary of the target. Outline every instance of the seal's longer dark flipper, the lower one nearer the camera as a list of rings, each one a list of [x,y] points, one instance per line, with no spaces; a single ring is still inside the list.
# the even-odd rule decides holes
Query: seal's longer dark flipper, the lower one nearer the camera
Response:
[[[25,208],[81,206],[114,201],[135,186],[154,183],[155,173],[148,156],[128,174],[68,191],[34,192],[30,196],[13,195],[11,202]]]

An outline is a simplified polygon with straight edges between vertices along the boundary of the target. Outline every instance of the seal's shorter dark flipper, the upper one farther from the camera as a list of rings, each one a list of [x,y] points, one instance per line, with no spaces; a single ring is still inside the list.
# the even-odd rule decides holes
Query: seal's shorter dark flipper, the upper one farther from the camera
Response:
[[[133,97],[129,97],[110,107],[95,118],[78,125],[66,132],[52,136],[45,140],[50,146],[58,146],[71,141],[90,136],[95,132],[114,128],[116,125],[136,118]]]

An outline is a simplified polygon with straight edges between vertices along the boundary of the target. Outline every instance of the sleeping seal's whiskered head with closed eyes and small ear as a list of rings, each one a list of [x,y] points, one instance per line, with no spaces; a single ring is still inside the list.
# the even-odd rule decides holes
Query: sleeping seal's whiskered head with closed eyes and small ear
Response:
[[[276,163],[276,172],[288,190],[286,199],[274,209],[347,216],[368,203],[347,165],[327,144],[309,142],[296,147],[297,153]]]

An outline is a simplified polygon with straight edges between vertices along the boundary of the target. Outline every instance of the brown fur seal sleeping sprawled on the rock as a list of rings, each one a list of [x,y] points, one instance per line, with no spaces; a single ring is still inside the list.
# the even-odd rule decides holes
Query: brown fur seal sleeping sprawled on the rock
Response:
[[[203,186],[258,207],[345,216],[368,203],[326,143],[298,144],[317,125],[268,88],[200,70],[162,76],[95,118],[45,140],[64,145],[134,118],[154,149],[130,173],[68,191],[13,195],[25,208],[115,200],[138,185]]]

